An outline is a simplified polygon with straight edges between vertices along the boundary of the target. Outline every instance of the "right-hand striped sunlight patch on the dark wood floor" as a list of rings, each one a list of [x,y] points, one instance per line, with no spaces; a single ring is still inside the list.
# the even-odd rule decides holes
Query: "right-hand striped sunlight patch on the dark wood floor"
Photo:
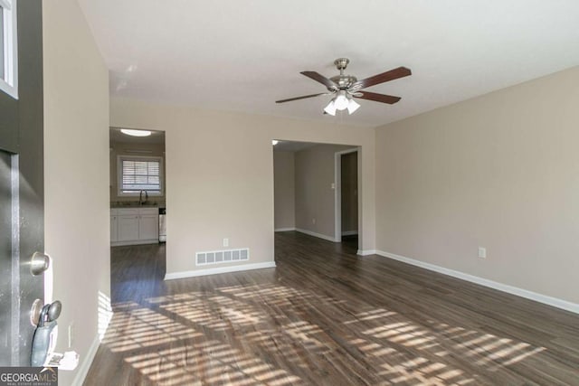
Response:
[[[510,338],[433,321],[416,325],[403,315],[384,309],[365,311],[355,316],[354,320],[344,324],[359,324],[361,334],[366,338],[358,337],[349,343],[367,355],[384,358],[381,365],[384,372],[380,372],[388,379],[384,384],[478,382],[476,375],[465,374],[433,359],[452,353],[481,366],[481,372],[492,372],[545,350],[544,347],[533,347]],[[414,350],[421,354],[414,356]]]

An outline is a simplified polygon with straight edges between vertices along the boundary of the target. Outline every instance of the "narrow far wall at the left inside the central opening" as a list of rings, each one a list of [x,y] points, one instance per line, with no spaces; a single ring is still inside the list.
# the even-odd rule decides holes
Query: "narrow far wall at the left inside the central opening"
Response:
[[[273,224],[276,230],[296,227],[294,162],[293,152],[273,150]]]

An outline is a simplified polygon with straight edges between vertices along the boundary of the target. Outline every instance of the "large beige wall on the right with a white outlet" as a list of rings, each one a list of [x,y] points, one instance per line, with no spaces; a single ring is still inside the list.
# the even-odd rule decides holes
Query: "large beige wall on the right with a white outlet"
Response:
[[[377,249],[579,303],[578,84],[574,68],[377,129]]]

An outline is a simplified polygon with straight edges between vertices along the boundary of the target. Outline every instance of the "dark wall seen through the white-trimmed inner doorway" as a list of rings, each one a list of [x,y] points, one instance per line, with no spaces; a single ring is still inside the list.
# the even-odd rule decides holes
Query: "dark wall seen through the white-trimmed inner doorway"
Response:
[[[358,154],[341,155],[341,225],[344,232],[358,231]]]

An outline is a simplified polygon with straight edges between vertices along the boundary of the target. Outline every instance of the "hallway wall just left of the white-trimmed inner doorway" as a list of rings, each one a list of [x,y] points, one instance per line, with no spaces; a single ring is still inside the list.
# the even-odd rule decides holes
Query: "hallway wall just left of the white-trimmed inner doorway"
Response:
[[[336,152],[351,146],[318,145],[296,152],[296,228],[335,237]]]

